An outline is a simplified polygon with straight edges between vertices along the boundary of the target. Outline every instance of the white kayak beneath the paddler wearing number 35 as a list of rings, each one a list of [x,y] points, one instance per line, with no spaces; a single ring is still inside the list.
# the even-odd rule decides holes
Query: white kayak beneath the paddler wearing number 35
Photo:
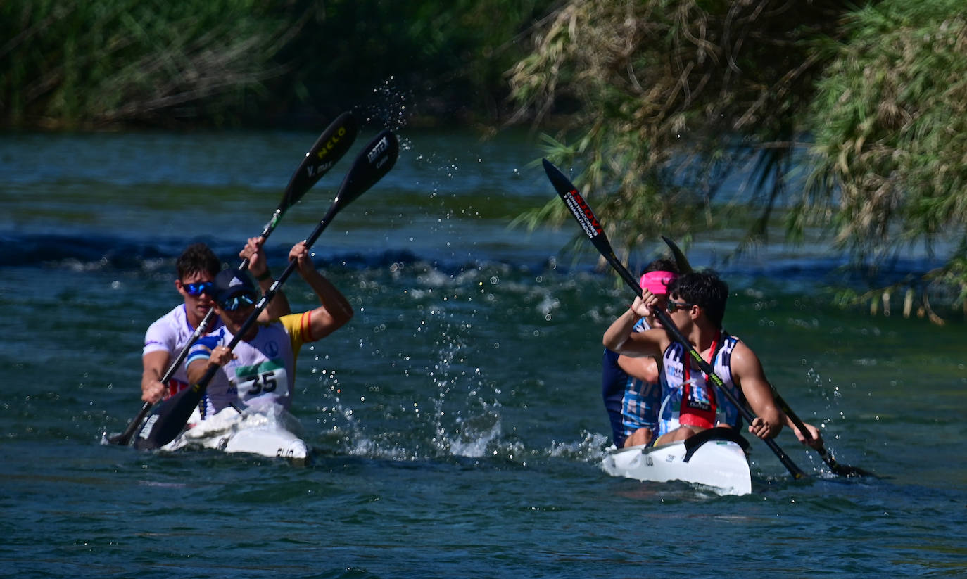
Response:
[[[228,407],[207,420],[194,422],[161,449],[217,449],[301,462],[308,458],[309,447],[296,434],[299,430],[299,421],[280,406],[249,408],[241,413]]]

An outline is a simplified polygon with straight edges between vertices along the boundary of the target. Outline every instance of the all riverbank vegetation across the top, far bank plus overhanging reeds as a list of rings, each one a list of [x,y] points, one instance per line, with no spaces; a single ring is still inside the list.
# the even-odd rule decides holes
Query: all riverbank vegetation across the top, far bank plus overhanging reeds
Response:
[[[967,304],[960,4],[8,0],[0,124],[531,125],[623,255],[737,224],[739,250],[818,230],[872,268],[925,247],[844,297],[939,320],[931,296]]]

